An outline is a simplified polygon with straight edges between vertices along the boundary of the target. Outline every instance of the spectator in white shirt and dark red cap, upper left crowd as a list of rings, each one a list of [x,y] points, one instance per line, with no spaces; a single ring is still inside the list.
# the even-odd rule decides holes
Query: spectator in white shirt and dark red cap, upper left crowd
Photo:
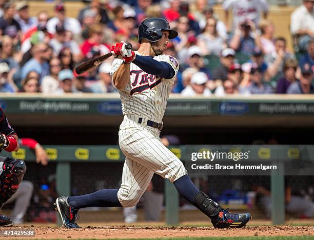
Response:
[[[67,17],[65,14],[65,8],[62,3],[57,4],[54,7],[55,16],[49,19],[47,22],[48,32],[54,34],[55,26],[63,23],[64,28],[73,34],[78,34],[82,31],[80,22],[73,17]]]

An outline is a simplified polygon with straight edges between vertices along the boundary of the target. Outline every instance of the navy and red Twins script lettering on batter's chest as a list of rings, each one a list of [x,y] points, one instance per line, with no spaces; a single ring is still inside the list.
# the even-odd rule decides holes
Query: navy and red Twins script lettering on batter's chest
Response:
[[[148,74],[143,70],[132,70],[131,75],[131,95],[135,92],[143,92],[146,89],[152,89],[161,83],[161,77],[156,78],[155,75]]]

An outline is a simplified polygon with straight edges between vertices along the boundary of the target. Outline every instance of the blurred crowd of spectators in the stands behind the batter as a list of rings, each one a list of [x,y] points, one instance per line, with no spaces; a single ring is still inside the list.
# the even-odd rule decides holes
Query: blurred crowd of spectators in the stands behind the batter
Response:
[[[173,93],[314,93],[314,1],[303,1],[291,14],[293,52],[267,18],[266,0],[220,1],[223,19],[212,2],[89,0],[72,18],[62,2],[55,2],[53,15],[30,16],[27,2],[1,0],[0,92],[117,92],[112,58],[82,75],[74,68],[110,52],[116,42],[138,49],[139,24],[146,17],[163,17],[179,33],[164,51],[180,63]]]

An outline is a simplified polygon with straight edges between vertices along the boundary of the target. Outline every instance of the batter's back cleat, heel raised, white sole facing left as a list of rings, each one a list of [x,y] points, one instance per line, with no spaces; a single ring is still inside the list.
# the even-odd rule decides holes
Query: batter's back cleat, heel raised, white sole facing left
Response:
[[[80,226],[75,223],[77,210],[70,206],[68,198],[68,196],[58,197],[53,205],[55,205],[56,210],[60,213],[63,226],[67,228],[80,228]]]

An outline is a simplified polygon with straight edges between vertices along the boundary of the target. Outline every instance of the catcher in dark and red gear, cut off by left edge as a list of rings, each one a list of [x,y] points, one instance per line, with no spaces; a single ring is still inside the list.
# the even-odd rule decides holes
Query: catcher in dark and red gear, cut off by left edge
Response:
[[[18,149],[18,137],[0,108],[0,152]],[[0,208],[16,192],[25,172],[26,165],[21,159],[0,156]],[[0,227],[4,226],[12,226],[12,222],[8,216],[0,214]]]

